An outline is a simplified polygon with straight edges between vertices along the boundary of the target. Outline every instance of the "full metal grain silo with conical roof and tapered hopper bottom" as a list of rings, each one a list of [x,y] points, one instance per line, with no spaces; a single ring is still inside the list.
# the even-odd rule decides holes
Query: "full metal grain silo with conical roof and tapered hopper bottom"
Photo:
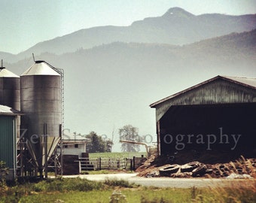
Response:
[[[44,61],[35,61],[20,76],[20,106],[26,114],[26,145],[39,172],[59,142],[62,123],[61,75]]]

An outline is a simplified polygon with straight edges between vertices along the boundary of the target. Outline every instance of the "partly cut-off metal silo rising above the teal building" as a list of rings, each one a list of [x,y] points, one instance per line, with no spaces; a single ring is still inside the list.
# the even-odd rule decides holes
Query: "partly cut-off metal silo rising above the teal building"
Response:
[[[20,77],[0,68],[0,105],[20,110]]]

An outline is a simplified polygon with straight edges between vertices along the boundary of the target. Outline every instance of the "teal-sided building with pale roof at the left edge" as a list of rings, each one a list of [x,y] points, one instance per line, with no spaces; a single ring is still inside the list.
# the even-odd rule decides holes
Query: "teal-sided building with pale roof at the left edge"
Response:
[[[5,162],[9,168],[7,180],[14,180],[17,168],[17,117],[20,111],[16,111],[5,105],[0,105],[0,161]]]

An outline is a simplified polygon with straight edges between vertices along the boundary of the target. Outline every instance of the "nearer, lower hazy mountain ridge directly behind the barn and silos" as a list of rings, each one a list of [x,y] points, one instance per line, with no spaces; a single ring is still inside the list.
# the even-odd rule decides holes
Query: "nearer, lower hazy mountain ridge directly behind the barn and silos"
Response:
[[[102,27],[93,29],[103,35]],[[104,29],[121,30],[114,26]],[[255,42],[254,29],[182,46],[115,41],[59,55],[50,49],[35,53],[35,59],[65,70],[66,128],[110,135],[113,126],[132,124],[143,135],[154,134],[154,110],[148,105],[160,98],[218,74],[256,77]],[[30,52],[19,62],[5,62],[5,67],[21,74],[33,63]]]

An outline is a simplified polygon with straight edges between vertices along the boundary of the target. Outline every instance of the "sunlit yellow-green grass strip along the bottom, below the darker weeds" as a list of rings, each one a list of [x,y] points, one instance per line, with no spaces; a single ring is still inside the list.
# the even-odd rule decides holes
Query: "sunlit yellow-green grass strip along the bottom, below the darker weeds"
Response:
[[[87,202],[87,203],[99,203],[109,202],[111,194],[114,191],[120,191],[121,194],[126,196],[126,200],[129,203],[183,203],[183,202],[247,202],[253,203],[256,198],[253,191],[248,193],[248,189],[245,191],[242,197],[235,194],[236,189],[222,189],[222,194],[216,195],[216,191],[211,189],[196,189],[195,196],[193,195],[193,189],[170,189],[170,188],[145,188],[139,187],[137,189],[105,189],[105,190],[92,190],[92,191],[70,191],[70,192],[32,192],[29,195],[23,195],[21,198],[15,200],[13,198],[5,198],[0,202],[55,202],[62,200],[64,202]],[[244,190],[244,189],[243,189]],[[238,192],[239,193],[239,192]],[[1,199],[1,198],[0,198]],[[61,201],[59,201],[61,202]]]

